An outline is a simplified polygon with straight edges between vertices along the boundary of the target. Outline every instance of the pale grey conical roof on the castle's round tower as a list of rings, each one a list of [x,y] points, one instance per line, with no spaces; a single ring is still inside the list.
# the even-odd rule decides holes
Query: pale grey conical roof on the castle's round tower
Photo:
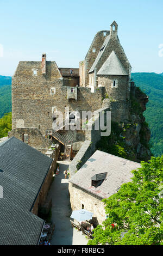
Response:
[[[122,63],[116,56],[115,52],[112,51],[108,59],[104,62],[101,69],[97,72],[97,75],[122,75],[127,76],[127,72],[124,69]]]

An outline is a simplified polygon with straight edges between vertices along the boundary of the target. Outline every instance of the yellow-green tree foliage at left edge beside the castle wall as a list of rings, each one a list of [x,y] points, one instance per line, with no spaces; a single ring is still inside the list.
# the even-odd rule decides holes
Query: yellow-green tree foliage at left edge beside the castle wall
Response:
[[[0,119],[0,138],[8,136],[8,132],[12,130],[12,115],[7,113]]]

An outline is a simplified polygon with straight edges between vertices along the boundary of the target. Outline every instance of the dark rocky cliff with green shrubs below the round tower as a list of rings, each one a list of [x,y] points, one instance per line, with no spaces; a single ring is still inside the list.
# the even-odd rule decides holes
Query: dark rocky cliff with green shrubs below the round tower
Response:
[[[97,149],[140,162],[151,158],[149,139],[151,132],[143,112],[148,96],[139,88],[131,87],[129,120],[124,123],[111,122],[111,135],[102,137]]]

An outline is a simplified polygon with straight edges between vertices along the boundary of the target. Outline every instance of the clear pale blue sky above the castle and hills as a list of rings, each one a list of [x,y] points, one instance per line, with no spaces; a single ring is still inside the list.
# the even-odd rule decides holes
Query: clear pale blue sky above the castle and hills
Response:
[[[78,68],[95,34],[114,20],[132,71],[161,73],[162,11],[162,0],[0,0],[0,75],[42,52],[59,67]]]

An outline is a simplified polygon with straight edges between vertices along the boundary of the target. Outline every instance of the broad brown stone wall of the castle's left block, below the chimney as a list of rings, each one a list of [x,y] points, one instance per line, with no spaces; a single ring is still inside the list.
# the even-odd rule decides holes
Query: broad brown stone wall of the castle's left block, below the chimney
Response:
[[[12,129],[32,127],[52,129],[52,107],[64,115],[70,111],[95,111],[102,106],[102,90],[91,93],[90,88],[77,88],[77,101],[67,100],[67,87],[55,62],[47,62],[46,75],[41,74],[41,62],[20,62],[12,78]],[[32,69],[37,69],[33,76]],[[55,94],[51,94],[55,88]]]

